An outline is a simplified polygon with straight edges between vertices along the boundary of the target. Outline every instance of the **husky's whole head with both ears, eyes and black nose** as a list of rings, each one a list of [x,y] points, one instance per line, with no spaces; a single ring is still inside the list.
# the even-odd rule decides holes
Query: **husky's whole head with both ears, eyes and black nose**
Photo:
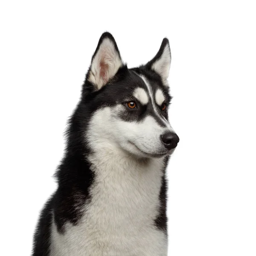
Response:
[[[84,104],[92,106],[86,134],[92,147],[121,148],[137,157],[172,154],[179,138],[168,119],[170,62],[165,38],[148,64],[128,69],[112,35],[102,35],[83,92]]]

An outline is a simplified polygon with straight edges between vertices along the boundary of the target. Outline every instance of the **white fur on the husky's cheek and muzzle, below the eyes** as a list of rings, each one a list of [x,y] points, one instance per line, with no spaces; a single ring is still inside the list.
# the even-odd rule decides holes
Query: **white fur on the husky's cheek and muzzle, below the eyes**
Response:
[[[165,152],[166,148],[160,140],[160,135],[167,129],[161,127],[152,116],[146,116],[142,122],[126,122],[119,117],[123,108],[125,106],[119,104],[102,108],[94,114],[91,121],[94,129],[87,134],[91,148],[104,146],[108,150],[120,151],[121,146],[124,151],[136,157]]]

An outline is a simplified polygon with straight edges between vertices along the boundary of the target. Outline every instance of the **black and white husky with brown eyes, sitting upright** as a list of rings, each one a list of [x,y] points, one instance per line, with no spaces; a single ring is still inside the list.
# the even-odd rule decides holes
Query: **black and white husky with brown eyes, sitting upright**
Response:
[[[167,38],[129,69],[102,34],[32,256],[167,255],[166,166],[179,142],[168,121],[170,64]]]

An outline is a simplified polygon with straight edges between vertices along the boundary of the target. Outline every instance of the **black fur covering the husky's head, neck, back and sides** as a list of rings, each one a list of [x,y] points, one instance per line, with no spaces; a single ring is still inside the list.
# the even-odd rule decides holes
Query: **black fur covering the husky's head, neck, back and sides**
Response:
[[[100,38],[92,60],[95,57],[100,44],[106,37],[113,41],[115,49],[120,56],[113,36],[106,32]],[[126,65],[123,65],[113,79],[108,81],[108,83],[98,91],[95,90],[94,85],[88,81],[89,72],[87,73],[81,91],[80,102],[68,122],[65,154],[55,174],[58,188],[49,201],[47,201],[41,212],[35,231],[32,256],[49,256],[52,214],[54,214],[58,232],[64,233],[64,224],[67,221],[76,225],[81,217],[82,211],[75,210],[74,206],[76,205],[76,207],[79,207],[80,205],[82,208],[86,202],[90,201],[88,191],[93,184],[94,175],[90,169],[90,164],[86,160],[86,156],[90,154],[90,148],[84,142],[84,134],[93,113],[99,107],[116,105],[116,102],[123,103],[125,109],[125,102],[129,100],[129,95],[132,95],[134,87],[145,86],[143,80],[137,76],[136,73],[145,76],[150,81],[154,91],[157,90],[158,87],[162,88],[166,95],[166,99],[168,99],[166,102],[166,105],[168,106],[169,101],[171,100],[168,89],[163,86],[160,75],[151,70],[151,65],[155,60],[160,58],[166,44],[168,44],[168,40],[164,39],[157,55],[146,65],[133,69],[128,69]],[[137,108],[137,111],[139,111],[140,114],[128,114],[128,111],[129,110],[125,109],[119,113],[120,117],[122,119],[139,120],[143,119],[149,112],[154,116],[151,107],[148,107],[145,110],[141,105],[138,105]],[[161,112],[160,109],[159,111]],[[167,111],[162,114],[168,118]],[[157,119],[156,116],[154,117]],[[160,120],[158,120],[158,122],[160,122]],[[167,162],[168,157],[166,157],[166,165]],[[165,172],[165,170],[163,171]],[[163,177],[162,187],[159,194],[161,202],[160,214],[155,220],[155,224],[167,234],[166,186],[166,179]]]

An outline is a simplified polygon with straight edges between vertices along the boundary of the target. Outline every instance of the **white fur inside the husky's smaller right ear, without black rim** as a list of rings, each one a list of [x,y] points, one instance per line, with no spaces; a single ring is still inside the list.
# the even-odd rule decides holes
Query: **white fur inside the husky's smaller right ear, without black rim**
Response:
[[[166,79],[169,76],[169,70],[171,67],[171,52],[169,44],[163,50],[161,57],[154,62],[152,69],[155,70],[163,79],[164,84],[166,84]]]

